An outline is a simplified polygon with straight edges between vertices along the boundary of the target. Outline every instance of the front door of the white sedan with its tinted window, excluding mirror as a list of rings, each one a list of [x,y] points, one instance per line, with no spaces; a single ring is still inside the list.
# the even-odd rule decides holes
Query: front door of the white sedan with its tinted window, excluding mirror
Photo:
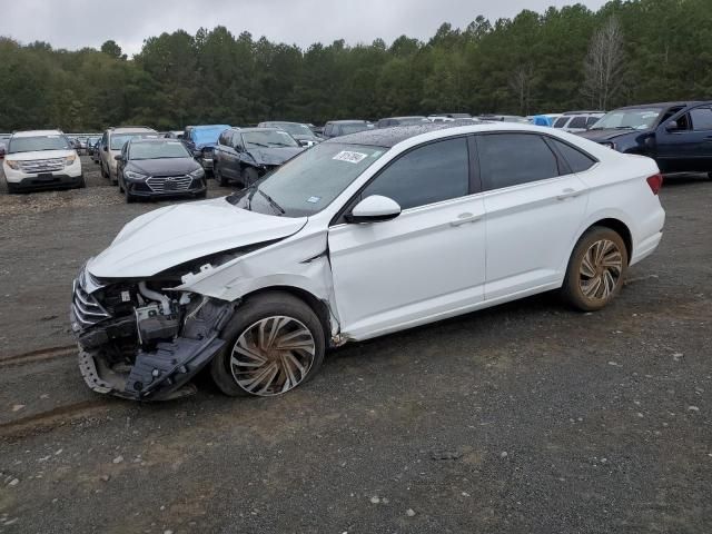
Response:
[[[352,200],[397,201],[393,220],[329,228],[342,332],[356,339],[455,315],[482,303],[484,205],[466,137],[421,145],[399,156]]]

